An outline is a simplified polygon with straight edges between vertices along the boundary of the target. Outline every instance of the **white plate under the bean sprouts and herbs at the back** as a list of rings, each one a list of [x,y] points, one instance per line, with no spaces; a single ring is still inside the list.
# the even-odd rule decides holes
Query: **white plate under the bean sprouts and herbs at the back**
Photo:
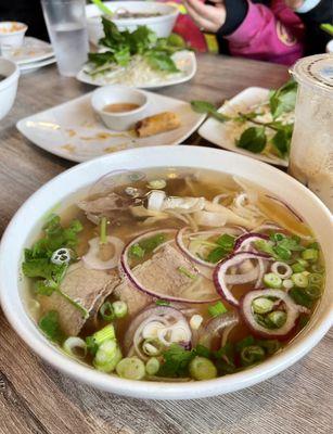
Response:
[[[196,73],[196,59],[195,54],[192,51],[178,51],[174,54],[174,60],[178,68],[181,71],[181,74],[172,74],[169,78],[157,80],[155,82],[139,82],[136,84],[135,87],[141,89],[158,89],[164,88],[166,86],[179,85],[181,82],[189,81]],[[76,78],[79,81],[87,82],[88,85],[93,86],[106,86],[111,85],[110,81],[106,80],[105,76],[99,76],[97,78],[91,78],[90,75],[85,73],[85,67],[78,73]],[[116,82],[113,82],[116,85]],[[118,82],[117,85],[121,85]]]

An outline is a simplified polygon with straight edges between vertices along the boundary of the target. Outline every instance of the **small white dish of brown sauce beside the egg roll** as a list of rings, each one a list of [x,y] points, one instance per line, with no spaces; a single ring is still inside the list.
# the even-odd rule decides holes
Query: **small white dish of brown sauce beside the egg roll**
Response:
[[[137,104],[138,108],[128,112],[106,112],[110,104]],[[105,86],[97,89],[91,97],[91,105],[107,128],[125,131],[133,128],[135,124],[144,117],[149,99],[145,92],[126,86]]]

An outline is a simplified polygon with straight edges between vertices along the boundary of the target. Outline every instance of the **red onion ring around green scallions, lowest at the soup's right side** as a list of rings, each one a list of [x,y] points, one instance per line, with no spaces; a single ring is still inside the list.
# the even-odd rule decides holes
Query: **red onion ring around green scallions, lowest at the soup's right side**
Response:
[[[286,321],[280,329],[266,329],[260,326],[253,314],[252,302],[258,297],[276,297],[283,302],[286,309]],[[296,326],[300,309],[293,298],[282,290],[255,290],[247,292],[240,301],[241,314],[254,334],[261,337],[285,339]]]

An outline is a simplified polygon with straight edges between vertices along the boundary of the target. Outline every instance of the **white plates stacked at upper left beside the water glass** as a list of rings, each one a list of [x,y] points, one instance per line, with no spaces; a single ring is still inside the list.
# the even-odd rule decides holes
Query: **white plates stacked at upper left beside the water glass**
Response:
[[[17,65],[26,65],[31,62],[39,62],[54,55],[51,43],[27,36],[24,38],[21,48],[2,48],[5,59],[16,62]]]

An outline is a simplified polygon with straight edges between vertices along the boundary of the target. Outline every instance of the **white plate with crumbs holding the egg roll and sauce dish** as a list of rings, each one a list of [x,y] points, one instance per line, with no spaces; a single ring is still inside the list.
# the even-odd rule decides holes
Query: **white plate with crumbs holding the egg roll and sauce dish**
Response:
[[[205,115],[194,113],[184,101],[151,92],[146,94],[150,106],[143,117],[159,112],[175,112],[181,119],[181,127],[142,139],[127,131],[112,131],[92,111],[91,93],[26,117],[16,127],[27,139],[46,151],[80,163],[125,149],[153,146],[158,143],[179,144],[205,118]]]

